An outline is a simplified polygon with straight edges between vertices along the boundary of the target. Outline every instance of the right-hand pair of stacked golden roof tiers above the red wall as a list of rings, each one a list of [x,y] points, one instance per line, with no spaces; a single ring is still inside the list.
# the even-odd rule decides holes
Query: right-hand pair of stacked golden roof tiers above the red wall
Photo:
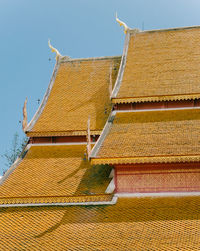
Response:
[[[200,27],[128,30],[112,102],[200,98]],[[113,112],[94,147],[93,164],[200,160],[199,109]]]

